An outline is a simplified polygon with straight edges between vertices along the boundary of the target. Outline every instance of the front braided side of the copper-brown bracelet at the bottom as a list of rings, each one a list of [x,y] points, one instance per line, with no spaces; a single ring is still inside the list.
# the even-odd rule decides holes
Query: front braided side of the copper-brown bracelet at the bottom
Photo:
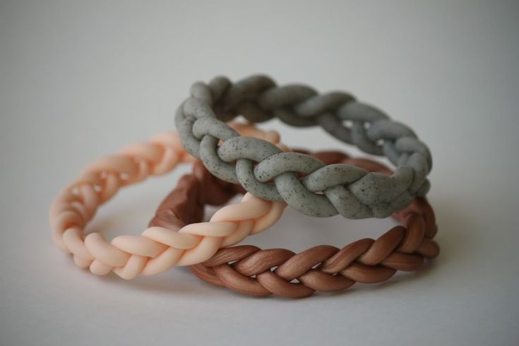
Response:
[[[432,215],[409,213],[402,220],[405,227],[393,227],[376,240],[361,239],[342,249],[329,245],[301,253],[248,245],[220,249],[191,270],[205,282],[256,297],[304,298],[314,292],[339,292],[355,282],[386,281],[398,270],[414,271],[426,258],[436,258],[439,246],[431,239],[436,227],[427,229],[426,217]]]

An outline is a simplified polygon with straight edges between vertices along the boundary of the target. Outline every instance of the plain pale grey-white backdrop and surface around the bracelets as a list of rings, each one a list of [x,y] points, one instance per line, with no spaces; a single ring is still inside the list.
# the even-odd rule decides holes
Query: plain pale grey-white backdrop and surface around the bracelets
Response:
[[[0,345],[518,345],[516,1],[0,2]],[[349,90],[429,144],[437,261],[292,301],[189,268],[98,278],[56,249],[49,203],[82,167],[174,129],[193,81],[258,72]],[[357,153],[321,129],[262,126]],[[90,230],[138,234],[188,171],[121,191]],[[391,225],[287,210],[246,243],[301,251]]]

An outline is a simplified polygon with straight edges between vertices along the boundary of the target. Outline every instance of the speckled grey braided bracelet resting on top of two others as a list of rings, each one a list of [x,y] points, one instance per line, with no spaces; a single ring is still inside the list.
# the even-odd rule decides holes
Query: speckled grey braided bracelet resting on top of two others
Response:
[[[366,153],[385,155],[398,168],[386,176],[351,165],[324,165],[309,155],[282,153],[261,139],[240,137],[225,124],[240,114],[252,122],[277,117],[293,126],[318,124]],[[234,84],[217,77],[208,84],[193,84],[175,122],[184,148],[216,177],[241,184],[268,201],[285,201],[306,215],[388,217],[429,191],[426,176],[432,162],[426,145],[407,126],[346,93],[318,95],[305,85],[277,86],[267,76]],[[298,179],[297,172],[306,177]]]

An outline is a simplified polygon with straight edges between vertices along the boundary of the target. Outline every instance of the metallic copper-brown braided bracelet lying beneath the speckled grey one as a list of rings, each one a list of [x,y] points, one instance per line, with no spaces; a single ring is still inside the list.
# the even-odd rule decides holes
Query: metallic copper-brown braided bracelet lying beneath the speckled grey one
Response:
[[[370,172],[390,174],[386,167],[371,160],[350,159],[342,153],[314,155],[327,164],[345,162]],[[181,181],[184,185],[180,191],[177,186],[165,198],[150,226],[179,227],[189,222],[190,210],[191,213],[196,210],[196,215],[201,217],[204,199],[208,196],[213,193],[226,196],[221,184],[204,171],[198,165],[193,169],[196,179],[189,176],[183,178],[185,181]],[[193,191],[192,202],[178,198],[179,193],[185,193],[184,189]],[[219,191],[205,192],[215,189]],[[393,214],[393,217],[403,226],[393,227],[376,240],[361,239],[342,249],[321,245],[296,254],[285,249],[261,250],[256,246],[235,246],[220,249],[213,258],[191,266],[191,269],[198,278],[213,285],[260,297],[275,294],[302,298],[316,291],[345,290],[355,282],[382,282],[397,270],[417,270],[424,258],[436,258],[439,254],[439,246],[432,240],[436,234],[434,212],[424,198],[415,198],[412,204]],[[296,279],[298,282],[292,282]]]

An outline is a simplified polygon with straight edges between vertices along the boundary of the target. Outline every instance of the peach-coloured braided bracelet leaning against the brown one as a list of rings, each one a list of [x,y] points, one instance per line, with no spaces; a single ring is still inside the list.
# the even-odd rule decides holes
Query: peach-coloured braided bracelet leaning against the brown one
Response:
[[[245,136],[263,138],[282,150],[276,131],[261,131],[249,124],[233,124]],[[116,155],[93,162],[52,203],[52,238],[60,249],[73,254],[76,265],[96,275],[114,271],[124,279],[153,275],[173,266],[201,263],[220,247],[237,244],[249,234],[273,225],[285,203],[263,201],[246,194],[241,202],[220,209],[209,222],[185,227],[149,227],[141,235],[115,237],[109,243],[99,233],[84,237],[85,227],[97,208],[122,186],[148,176],[170,172],[184,162],[193,162],[182,148],[177,133],[160,133],[145,143],[135,143]]]

